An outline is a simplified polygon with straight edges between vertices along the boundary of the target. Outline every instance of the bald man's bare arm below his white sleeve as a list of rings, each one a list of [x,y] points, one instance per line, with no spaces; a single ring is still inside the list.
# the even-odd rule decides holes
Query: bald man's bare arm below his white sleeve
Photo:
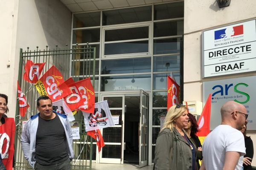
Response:
[[[223,170],[234,170],[239,161],[240,155],[240,152],[227,151],[225,154]]]

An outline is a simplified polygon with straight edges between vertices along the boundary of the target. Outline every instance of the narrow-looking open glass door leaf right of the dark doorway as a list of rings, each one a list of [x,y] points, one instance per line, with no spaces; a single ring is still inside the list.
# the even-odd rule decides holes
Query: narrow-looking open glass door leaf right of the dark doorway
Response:
[[[148,165],[148,94],[140,90],[140,156],[139,167]]]

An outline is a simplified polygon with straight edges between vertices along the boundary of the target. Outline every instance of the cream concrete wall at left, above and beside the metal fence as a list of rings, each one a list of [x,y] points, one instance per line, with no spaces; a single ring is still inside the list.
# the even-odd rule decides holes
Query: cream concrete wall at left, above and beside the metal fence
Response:
[[[70,45],[72,13],[59,0],[0,0],[0,93],[15,116],[20,48],[43,50]],[[9,68],[7,64],[10,64]]]

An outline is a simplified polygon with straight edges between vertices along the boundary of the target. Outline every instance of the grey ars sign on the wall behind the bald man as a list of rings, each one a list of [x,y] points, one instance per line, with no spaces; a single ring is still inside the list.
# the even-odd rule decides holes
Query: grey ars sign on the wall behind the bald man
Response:
[[[256,76],[203,82],[204,102],[212,94],[210,129],[221,124],[221,106],[235,101],[247,109],[248,130],[256,130]]]

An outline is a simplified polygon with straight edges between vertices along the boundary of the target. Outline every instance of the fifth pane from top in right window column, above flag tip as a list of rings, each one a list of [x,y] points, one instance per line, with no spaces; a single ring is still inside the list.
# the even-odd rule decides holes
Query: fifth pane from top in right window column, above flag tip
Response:
[[[167,75],[170,74],[153,74],[153,90],[166,90],[167,89]],[[180,73],[173,73],[175,81],[180,85]]]

